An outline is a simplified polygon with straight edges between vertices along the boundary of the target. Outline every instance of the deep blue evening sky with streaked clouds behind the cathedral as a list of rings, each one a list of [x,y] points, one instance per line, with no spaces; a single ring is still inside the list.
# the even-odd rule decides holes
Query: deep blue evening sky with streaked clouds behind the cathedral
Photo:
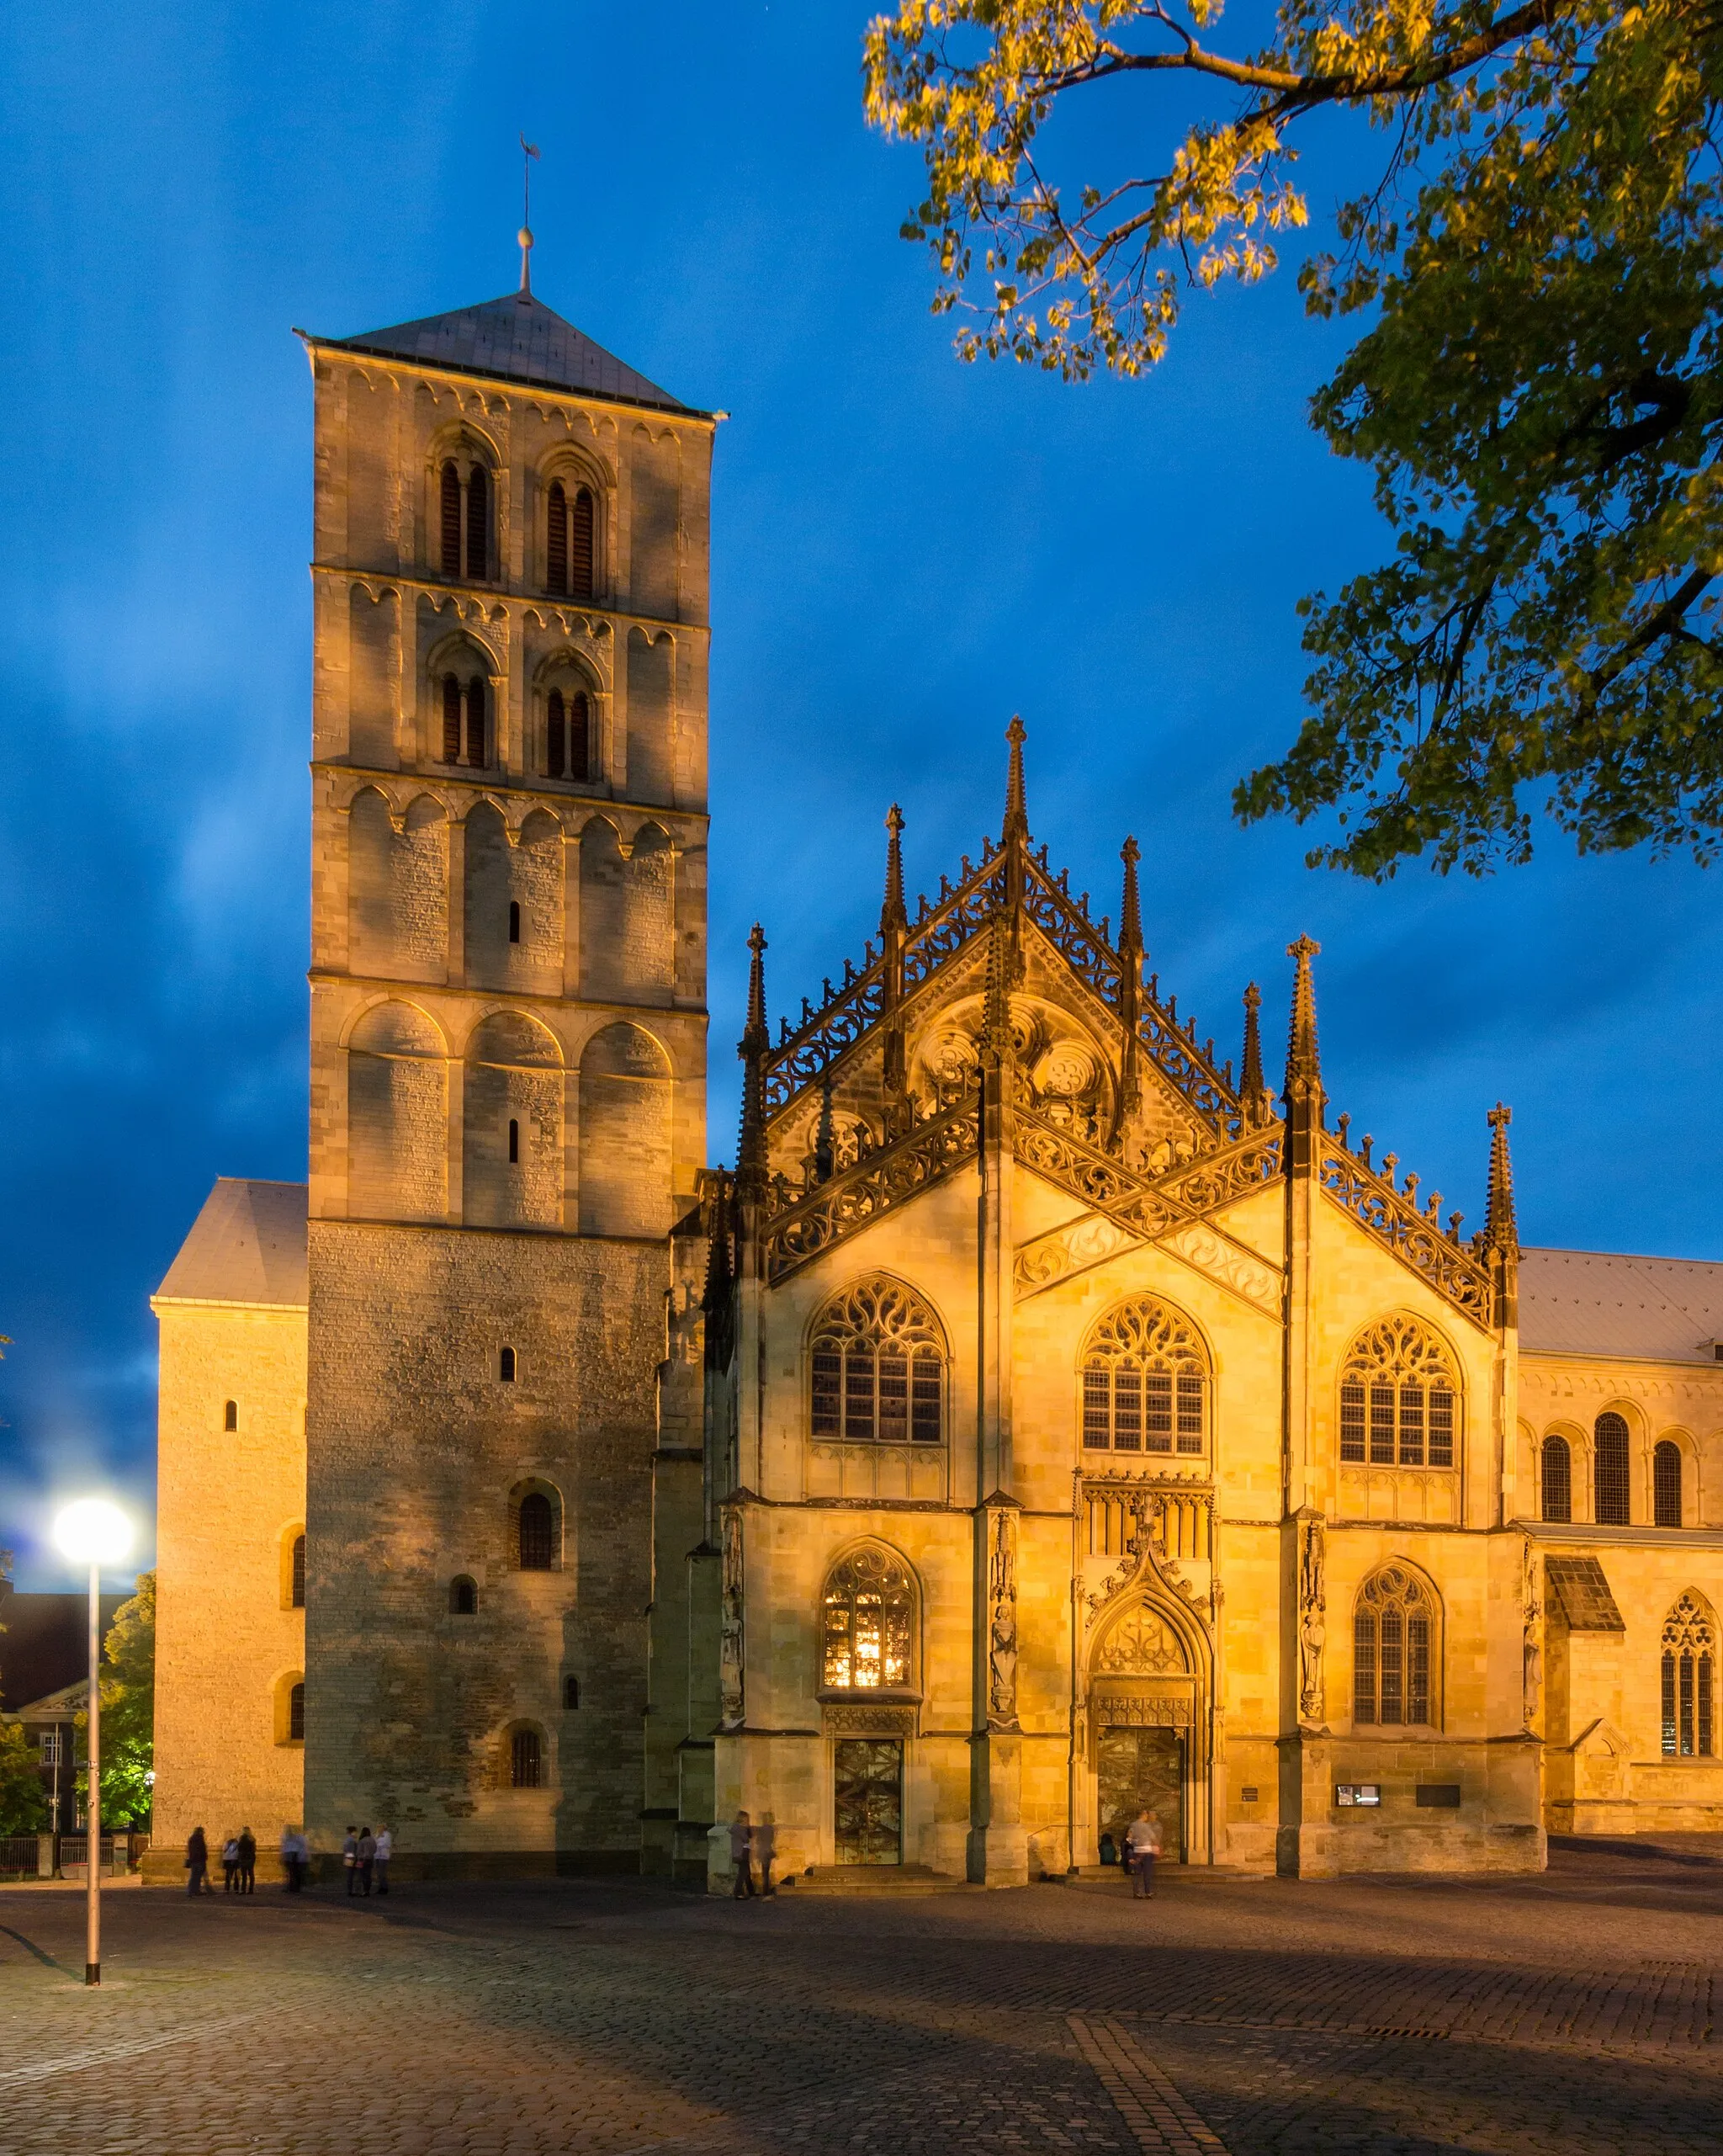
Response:
[[[714,496],[712,1156],[744,936],[776,1013],[858,953],[882,817],[910,886],[994,830],[1003,729],[1074,886],[1225,1052],[1322,940],[1335,1108],[1481,1214],[1514,1104],[1529,1242],[1723,1257],[1691,1166],[1723,934],[1684,862],[1550,834],[1488,882],[1307,871],[1233,778],[1300,709],[1296,597],[1380,556],[1305,401],[1341,332],[1292,267],[1193,298],[1149,379],[964,369],[897,239],[914,151],[860,121],[869,0],[123,6],[0,0],[11,783],[0,796],[0,1546],[153,1485],[149,1291],[211,1177],[304,1173],[311,384],[347,334],[513,287],[733,414]],[[1229,17],[1231,22],[1231,17]],[[1240,34],[1242,26],[1233,26]],[[1134,138],[1139,95],[1087,125]],[[1318,222],[1371,142],[1302,166]],[[1318,155],[1320,151],[1320,155]],[[1350,168],[1333,160],[1350,160]],[[209,1490],[220,1507],[222,1490]],[[144,1557],[149,1552],[144,1550]]]

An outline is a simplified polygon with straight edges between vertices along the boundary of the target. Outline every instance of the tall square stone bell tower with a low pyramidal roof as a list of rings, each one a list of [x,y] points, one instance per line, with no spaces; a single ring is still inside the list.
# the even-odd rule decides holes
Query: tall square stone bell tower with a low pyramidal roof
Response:
[[[653,1503],[701,1518],[714,414],[526,278],[304,343],[308,1826],[634,1869]]]

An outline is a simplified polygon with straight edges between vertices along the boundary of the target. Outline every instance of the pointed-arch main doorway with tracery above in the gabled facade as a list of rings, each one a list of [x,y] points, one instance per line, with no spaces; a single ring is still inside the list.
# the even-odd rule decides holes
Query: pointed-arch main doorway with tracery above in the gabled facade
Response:
[[[1095,1850],[1149,1811],[1169,1861],[1212,1861],[1210,1662],[1195,1617],[1156,1595],[1098,1628],[1083,1703]]]

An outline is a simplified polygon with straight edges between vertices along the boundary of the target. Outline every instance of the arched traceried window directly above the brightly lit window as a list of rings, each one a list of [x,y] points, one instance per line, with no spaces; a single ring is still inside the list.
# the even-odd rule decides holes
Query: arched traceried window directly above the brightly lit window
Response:
[[[832,1296],[811,1343],[815,1438],[938,1445],[945,1436],[945,1335],[901,1281],[858,1281]]]

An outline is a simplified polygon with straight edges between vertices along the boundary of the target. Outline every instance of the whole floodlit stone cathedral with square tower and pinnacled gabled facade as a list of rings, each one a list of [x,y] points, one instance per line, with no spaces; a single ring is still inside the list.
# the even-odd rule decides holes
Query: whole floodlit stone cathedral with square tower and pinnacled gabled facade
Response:
[[[1723,1826],[1723,1266],[1522,1248],[996,832],[705,1147],[709,472],[530,289],[304,336],[311,1149],[162,1281],[155,1856],[988,1887]],[[770,923],[768,923],[770,925]],[[1279,1048],[1281,1026],[1274,1026]],[[1279,1061],[1279,1059],[1277,1059]],[[1486,1143],[1488,1141],[1488,1143]]]

